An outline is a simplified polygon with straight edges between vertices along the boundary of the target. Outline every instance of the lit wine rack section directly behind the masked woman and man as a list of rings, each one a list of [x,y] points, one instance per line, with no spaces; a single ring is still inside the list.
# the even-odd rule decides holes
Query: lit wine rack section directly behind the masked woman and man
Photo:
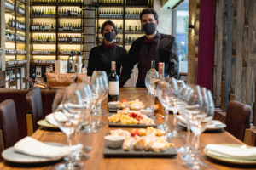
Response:
[[[126,48],[144,35],[139,18],[143,8],[152,8],[153,0],[97,0],[96,44],[102,43],[101,27],[106,20],[112,20],[117,26],[118,36],[115,42]]]

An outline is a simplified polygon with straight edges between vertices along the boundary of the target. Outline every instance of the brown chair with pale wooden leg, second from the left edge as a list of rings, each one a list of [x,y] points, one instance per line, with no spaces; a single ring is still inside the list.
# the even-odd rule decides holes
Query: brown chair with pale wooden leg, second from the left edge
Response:
[[[26,114],[27,135],[32,135],[38,129],[37,122],[44,117],[40,89],[32,88],[26,94],[26,102],[29,108],[29,112]]]

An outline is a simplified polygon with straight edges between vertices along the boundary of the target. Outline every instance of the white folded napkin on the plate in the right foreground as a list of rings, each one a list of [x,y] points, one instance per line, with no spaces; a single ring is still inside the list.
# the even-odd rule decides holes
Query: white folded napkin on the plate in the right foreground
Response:
[[[240,160],[256,160],[256,147],[237,147],[222,144],[207,144],[206,150],[213,156]]]

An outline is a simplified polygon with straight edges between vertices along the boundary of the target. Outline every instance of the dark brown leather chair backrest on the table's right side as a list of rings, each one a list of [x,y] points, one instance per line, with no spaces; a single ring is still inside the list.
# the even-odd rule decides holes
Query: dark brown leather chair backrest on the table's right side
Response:
[[[236,100],[229,102],[225,123],[226,131],[243,141],[245,130],[250,128],[250,115],[252,108]]]

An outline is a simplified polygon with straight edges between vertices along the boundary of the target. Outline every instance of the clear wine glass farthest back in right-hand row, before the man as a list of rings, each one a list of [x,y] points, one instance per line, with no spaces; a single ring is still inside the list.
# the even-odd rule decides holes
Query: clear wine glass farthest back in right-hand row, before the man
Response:
[[[146,88],[148,88],[148,92],[151,96],[151,111],[153,113],[154,111],[154,94],[155,94],[155,91],[156,91],[156,86],[157,86],[157,79],[159,78],[159,74],[156,70],[152,71],[152,70],[149,70],[146,74],[146,77],[145,77],[145,86]]]

